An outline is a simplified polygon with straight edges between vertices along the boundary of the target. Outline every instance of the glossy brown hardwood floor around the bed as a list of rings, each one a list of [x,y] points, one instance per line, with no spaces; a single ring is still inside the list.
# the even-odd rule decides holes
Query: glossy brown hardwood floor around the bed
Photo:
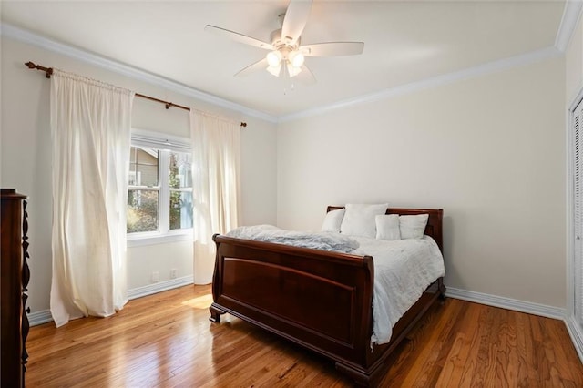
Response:
[[[129,301],[110,318],[33,327],[26,386],[348,387],[333,362],[225,315],[210,286]],[[564,322],[446,299],[389,360],[381,386],[582,387]]]

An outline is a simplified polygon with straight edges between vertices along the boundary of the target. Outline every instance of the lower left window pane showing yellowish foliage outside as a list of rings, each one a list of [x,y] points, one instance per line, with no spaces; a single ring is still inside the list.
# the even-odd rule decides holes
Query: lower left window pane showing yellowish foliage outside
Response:
[[[158,230],[158,191],[128,190],[128,233]]]

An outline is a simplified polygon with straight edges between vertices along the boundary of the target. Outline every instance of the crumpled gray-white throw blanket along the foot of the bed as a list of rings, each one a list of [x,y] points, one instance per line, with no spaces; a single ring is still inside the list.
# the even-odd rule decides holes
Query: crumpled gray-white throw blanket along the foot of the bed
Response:
[[[350,253],[360,246],[358,241],[335,232],[282,230],[272,225],[239,227],[230,230],[225,236],[343,253]]]

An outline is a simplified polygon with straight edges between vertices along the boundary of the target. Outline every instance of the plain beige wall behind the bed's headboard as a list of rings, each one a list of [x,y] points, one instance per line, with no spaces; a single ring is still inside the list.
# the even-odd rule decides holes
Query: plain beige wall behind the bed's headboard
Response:
[[[326,205],[445,209],[445,283],[566,305],[565,61],[281,123],[278,224]]]

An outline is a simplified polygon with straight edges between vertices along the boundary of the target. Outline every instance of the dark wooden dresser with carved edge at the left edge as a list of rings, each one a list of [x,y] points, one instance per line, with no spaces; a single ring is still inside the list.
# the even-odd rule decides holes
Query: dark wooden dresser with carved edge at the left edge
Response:
[[[28,222],[26,220],[26,196],[15,189],[0,189],[2,196],[2,250],[0,251],[0,299],[2,301],[2,369],[0,386],[24,387],[26,360],[26,287],[30,278],[28,270]]]

